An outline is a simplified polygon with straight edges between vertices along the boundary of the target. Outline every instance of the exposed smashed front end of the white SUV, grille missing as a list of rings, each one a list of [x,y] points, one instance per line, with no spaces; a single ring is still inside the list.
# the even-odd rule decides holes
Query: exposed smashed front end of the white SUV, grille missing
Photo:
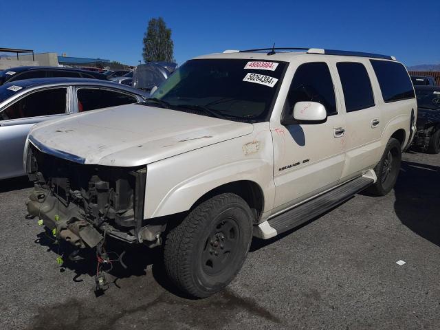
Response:
[[[43,153],[32,143],[25,157],[34,181],[28,213],[56,239],[76,248],[94,248],[105,236],[126,243],[143,240],[146,166],[78,164]]]

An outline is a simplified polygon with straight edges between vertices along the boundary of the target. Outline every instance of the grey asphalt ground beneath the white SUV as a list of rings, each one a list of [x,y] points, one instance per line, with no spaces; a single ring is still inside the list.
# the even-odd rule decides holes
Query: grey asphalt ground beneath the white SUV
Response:
[[[96,263],[60,267],[25,219],[26,180],[0,181],[0,329],[440,329],[440,155],[405,153],[389,195],[254,239],[231,285],[203,300],[176,292],[148,248],[96,296]]]

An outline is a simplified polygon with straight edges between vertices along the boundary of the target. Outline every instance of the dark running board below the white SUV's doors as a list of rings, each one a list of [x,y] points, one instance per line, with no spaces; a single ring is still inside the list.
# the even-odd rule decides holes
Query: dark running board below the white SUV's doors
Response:
[[[340,203],[347,201],[353,195],[361,192],[375,182],[375,178],[366,175],[353,179],[346,184],[342,184],[329,192],[325,192],[310,201],[306,201],[292,210],[288,210],[276,217],[269,219],[268,225],[276,230],[276,234],[285,232],[289,229],[295,228],[298,225],[305,223],[318,215],[331,210]],[[275,235],[271,235],[275,236]]]

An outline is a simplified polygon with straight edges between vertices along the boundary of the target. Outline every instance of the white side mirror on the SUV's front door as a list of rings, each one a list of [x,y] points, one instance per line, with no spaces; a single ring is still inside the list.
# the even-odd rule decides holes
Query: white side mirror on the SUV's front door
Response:
[[[327,111],[318,102],[296,102],[292,117],[283,118],[281,124],[321,124],[327,121]]]

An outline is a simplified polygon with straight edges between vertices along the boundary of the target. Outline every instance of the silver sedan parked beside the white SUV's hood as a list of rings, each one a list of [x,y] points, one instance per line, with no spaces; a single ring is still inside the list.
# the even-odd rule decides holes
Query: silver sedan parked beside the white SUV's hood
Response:
[[[33,124],[147,97],[140,89],[84,78],[39,78],[0,86],[0,179],[25,175],[23,148]]]

